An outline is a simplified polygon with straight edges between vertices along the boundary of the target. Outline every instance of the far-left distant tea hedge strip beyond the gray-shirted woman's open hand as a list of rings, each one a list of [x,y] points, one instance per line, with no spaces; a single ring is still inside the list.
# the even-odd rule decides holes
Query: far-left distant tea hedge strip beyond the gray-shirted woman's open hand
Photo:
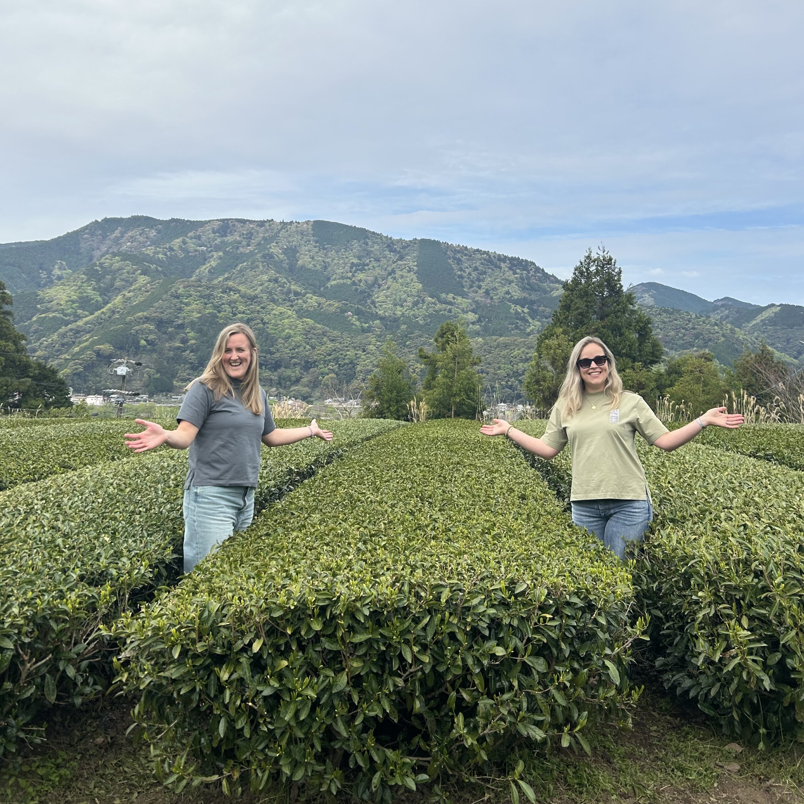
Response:
[[[0,491],[131,457],[123,433],[142,429],[132,421],[55,421],[58,424],[51,427],[0,429]],[[175,427],[175,421],[172,425]]]

